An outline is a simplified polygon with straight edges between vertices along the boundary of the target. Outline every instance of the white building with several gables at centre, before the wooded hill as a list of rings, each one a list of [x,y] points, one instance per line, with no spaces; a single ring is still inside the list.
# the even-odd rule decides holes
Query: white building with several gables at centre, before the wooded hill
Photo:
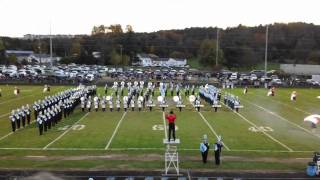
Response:
[[[154,54],[138,54],[139,64],[141,66],[166,66],[166,67],[184,67],[187,65],[187,59],[178,58],[159,58]]]

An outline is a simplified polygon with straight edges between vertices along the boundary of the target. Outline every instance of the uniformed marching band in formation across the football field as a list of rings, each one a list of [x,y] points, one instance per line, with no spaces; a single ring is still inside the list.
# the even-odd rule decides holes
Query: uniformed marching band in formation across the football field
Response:
[[[212,85],[196,87],[195,85],[189,84],[160,82],[158,87],[160,94],[156,98],[158,102],[157,105],[153,99],[156,93],[156,83],[148,82],[144,84],[144,81],[127,83],[124,81],[114,82],[109,94],[108,85],[106,84],[104,86],[104,96],[97,94],[97,87],[95,85],[80,85],[77,88],[68,89],[52,96],[46,96],[43,100],[35,101],[32,106],[34,118],[39,128],[39,134],[42,135],[63,118],[70,116],[78,105],[82,112],[91,112],[91,108],[94,108],[94,112],[98,112],[100,109],[102,112],[106,112],[107,106],[110,112],[113,112],[114,108],[116,112],[119,112],[121,111],[121,107],[124,111],[127,111],[128,108],[130,108],[131,111],[135,111],[136,107],[138,112],[144,111],[145,108],[153,111],[153,108],[156,106],[164,112],[166,108],[171,105],[175,105],[181,112],[183,108],[186,107],[181,93],[183,91],[185,97],[189,99],[197,111],[200,111],[201,108],[204,107],[202,100],[210,104],[215,112],[221,107],[219,104],[221,98],[220,89]],[[196,93],[196,89],[199,90],[198,93]],[[44,92],[48,91],[50,91],[50,86],[45,85]],[[174,95],[172,101],[168,101],[167,99],[168,91],[170,91],[171,95]],[[19,92],[19,88],[15,87],[15,94],[19,94]],[[126,95],[125,92],[127,93]],[[115,99],[115,101],[113,101],[113,99]],[[239,98],[228,93],[224,96],[224,103],[236,111],[241,107]],[[12,131],[16,131],[21,128],[21,126],[25,127],[29,125],[31,123],[31,113],[32,111],[29,105],[12,110],[9,117]]]

